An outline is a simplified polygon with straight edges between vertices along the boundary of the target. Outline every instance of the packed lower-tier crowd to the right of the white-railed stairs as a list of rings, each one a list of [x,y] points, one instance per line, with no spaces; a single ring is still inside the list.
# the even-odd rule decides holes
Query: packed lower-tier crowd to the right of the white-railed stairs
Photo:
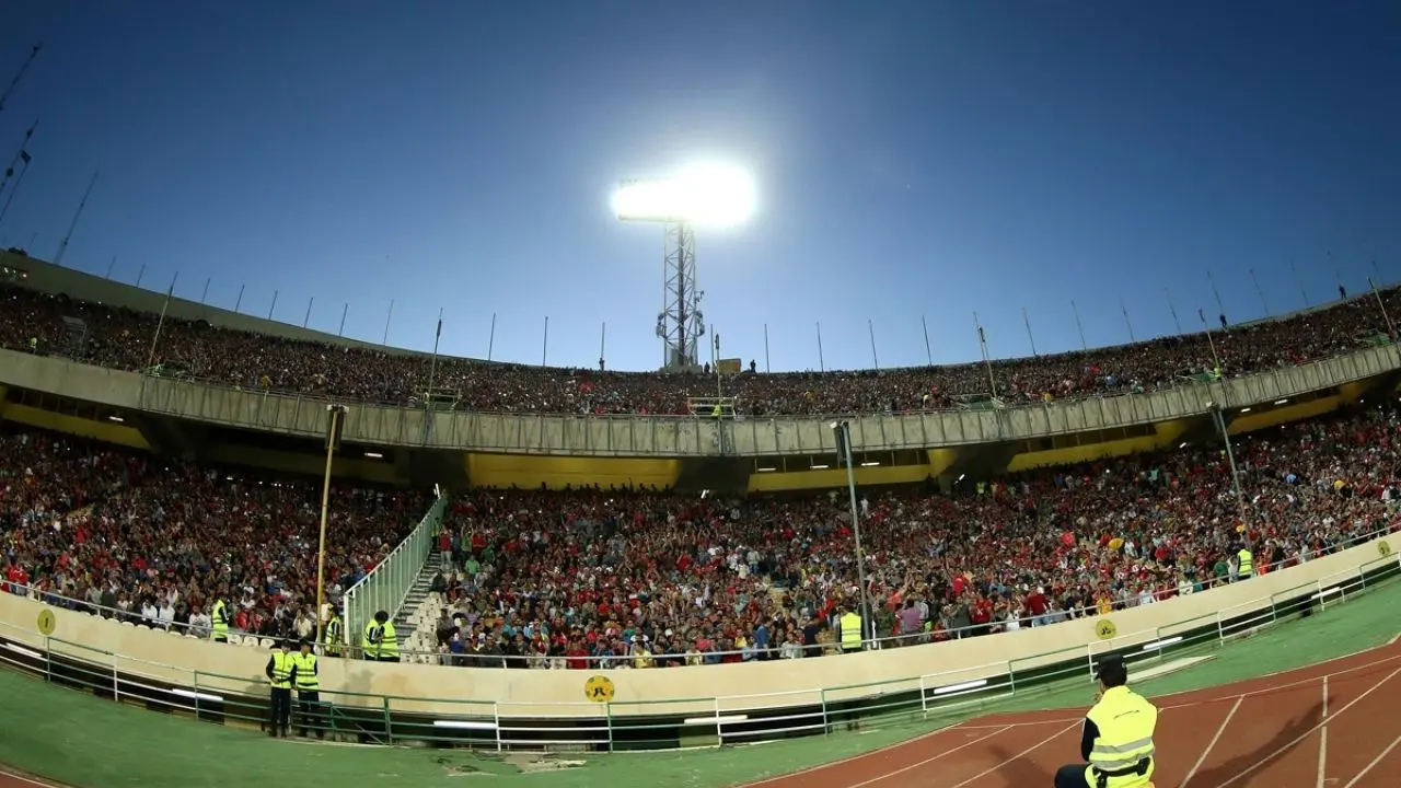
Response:
[[[1395,529],[1393,408],[1219,446],[860,501],[881,648],[1153,604]],[[835,653],[860,609],[845,496],[478,495],[448,520],[446,665],[650,667]]]

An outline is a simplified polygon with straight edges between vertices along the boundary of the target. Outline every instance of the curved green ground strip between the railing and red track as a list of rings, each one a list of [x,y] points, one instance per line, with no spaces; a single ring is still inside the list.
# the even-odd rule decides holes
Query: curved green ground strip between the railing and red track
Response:
[[[1300,667],[1386,644],[1395,637],[1401,583],[1377,586],[1344,606],[1311,618],[1281,624],[1247,641],[1213,649],[1216,659],[1143,686],[1166,694],[1223,684]],[[1082,681],[968,709],[1027,711],[1086,705]],[[474,756],[460,750],[314,745],[270,740],[256,732],[132,708],[50,687],[0,670],[0,763],[81,788],[144,785],[150,788],[266,788],[311,781],[336,788],[478,785],[513,788],[593,787],[716,788],[857,754],[909,739],[953,718],[867,726],[762,746],[637,754],[551,756],[549,761],[586,761],[556,771],[523,771],[524,761]],[[478,777],[462,781],[464,774]]]

